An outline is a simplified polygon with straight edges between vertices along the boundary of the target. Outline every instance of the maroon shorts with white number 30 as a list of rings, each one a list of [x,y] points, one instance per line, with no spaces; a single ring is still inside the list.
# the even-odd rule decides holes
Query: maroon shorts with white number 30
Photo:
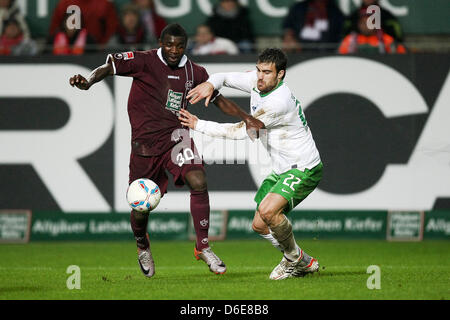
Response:
[[[175,186],[185,185],[186,173],[191,170],[204,171],[202,158],[199,156],[194,141],[190,145],[179,143],[159,156],[142,156],[134,152],[130,156],[129,183],[139,178],[153,180],[161,189],[161,195],[167,192],[169,177],[167,171],[173,176]]]

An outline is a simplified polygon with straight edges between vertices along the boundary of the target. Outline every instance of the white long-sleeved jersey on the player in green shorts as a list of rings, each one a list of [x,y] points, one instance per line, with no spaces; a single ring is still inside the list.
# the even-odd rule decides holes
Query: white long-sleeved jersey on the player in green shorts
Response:
[[[265,124],[267,135],[261,138],[261,142],[269,153],[272,169],[276,174],[292,168],[304,171],[320,163],[319,151],[300,103],[283,81],[265,94],[257,89],[256,70],[216,73],[210,76],[208,82],[212,83],[215,89],[226,86],[251,94],[250,112]],[[232,124],[199,120],[195,130],[214,137],[247,137],[244,122]]]

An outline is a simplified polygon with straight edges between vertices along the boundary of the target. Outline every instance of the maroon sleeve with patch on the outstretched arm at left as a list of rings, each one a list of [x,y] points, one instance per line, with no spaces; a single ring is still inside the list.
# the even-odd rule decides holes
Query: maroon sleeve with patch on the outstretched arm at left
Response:
[[[145,59],[140,52],[109,54],[106,63],[111,63],[114,75],[138,78],[144,70]]]

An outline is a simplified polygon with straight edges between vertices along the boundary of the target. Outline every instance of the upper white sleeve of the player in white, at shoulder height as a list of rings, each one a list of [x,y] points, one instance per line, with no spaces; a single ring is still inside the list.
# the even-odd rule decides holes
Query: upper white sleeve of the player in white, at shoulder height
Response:
[[[216,90],[225,86],[250,93],[256,82],[256,71],[215,73],[209,77],[208,82]]]

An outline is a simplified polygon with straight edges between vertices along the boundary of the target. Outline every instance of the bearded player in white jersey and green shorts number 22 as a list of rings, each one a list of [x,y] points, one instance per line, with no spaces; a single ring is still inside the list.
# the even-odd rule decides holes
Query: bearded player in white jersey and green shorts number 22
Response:
[[[265,125],[262,144],[272,160],[272,173],[255,196],[257,209],[252,228],[272,242],[282,253],[281,262],[270,274],[280,280],[300,277],[319,270],[317,259],[296,243],[292,224],[286,214],[303,201],[322,178],[322,162],[300,102],[283,79],[287,58],[280,49],[266,49],[258,57],[252,72],[216,73],[207,82],[192,89],[188,98],[196,103],[222,86],[251,94],[251,114]],[[180,111],[181,123],[213,137],[245,139],[244,123],[217,123],[200,120],[186,110]]]

